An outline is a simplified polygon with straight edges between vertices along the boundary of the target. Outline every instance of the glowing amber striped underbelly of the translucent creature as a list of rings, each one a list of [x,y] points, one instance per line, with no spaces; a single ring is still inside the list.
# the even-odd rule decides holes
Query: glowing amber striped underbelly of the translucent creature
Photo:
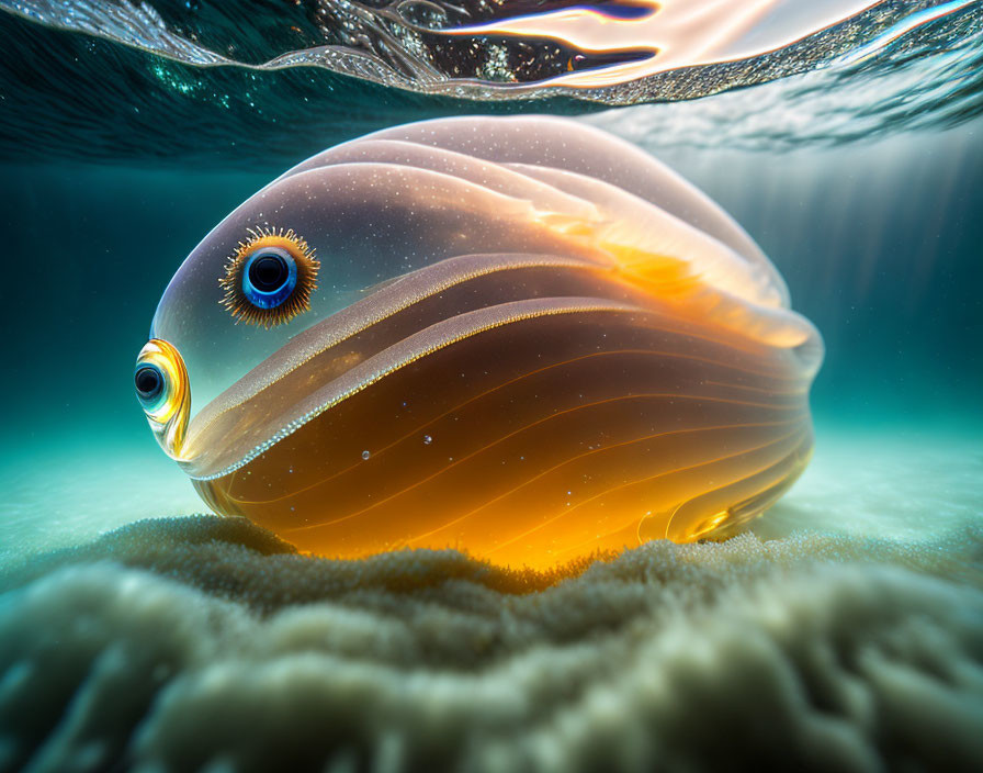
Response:
[[[542,569],[759,515],[807,462],[811,378],[792,349],[654,312],[533,316],[194,485],[312,553],[450,547]]]

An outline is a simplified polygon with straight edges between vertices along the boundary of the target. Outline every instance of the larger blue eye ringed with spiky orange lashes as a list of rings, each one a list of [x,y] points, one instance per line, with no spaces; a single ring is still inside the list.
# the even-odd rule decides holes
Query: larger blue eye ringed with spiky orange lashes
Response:
[[[318,268],[314,249],[293,231],[250,229],[218,280],[221,303],[237,323],[283,324],[310,307]]]

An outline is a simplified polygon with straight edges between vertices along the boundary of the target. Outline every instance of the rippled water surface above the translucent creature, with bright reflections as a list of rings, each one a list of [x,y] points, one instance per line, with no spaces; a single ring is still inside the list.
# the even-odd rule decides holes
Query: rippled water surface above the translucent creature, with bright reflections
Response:
[[[653,148],[793,146],[949,126],[981,105],[979,0],[0,9],[8,158],[276,169],[398,121],[611,105],[647,105],[629,123]],[[617,115],[597,120],[620,131]]]

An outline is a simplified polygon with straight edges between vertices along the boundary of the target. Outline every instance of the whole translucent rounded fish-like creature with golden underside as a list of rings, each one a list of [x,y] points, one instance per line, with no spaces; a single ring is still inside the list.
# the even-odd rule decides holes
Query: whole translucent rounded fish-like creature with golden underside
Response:
[[[304,161],[192,251],[150,337],[138,397],[217,513],[535,568],[759,515],[807,462],[823,356],[719,206],[539,116]]]

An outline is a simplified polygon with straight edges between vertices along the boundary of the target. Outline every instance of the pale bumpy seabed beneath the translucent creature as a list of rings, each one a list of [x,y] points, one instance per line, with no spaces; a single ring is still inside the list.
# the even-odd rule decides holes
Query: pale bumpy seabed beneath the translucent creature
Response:
[[[555,574],[18,511],[0,770],[983,769],[976,439],[820,448],[754,533]]]

